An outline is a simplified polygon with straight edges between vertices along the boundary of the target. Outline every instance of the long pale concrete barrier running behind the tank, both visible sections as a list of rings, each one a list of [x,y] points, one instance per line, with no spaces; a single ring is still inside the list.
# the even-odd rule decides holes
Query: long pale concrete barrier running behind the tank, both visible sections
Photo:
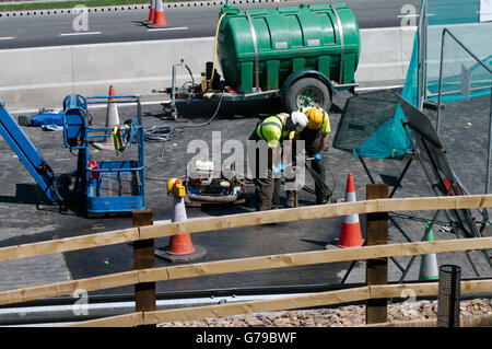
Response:
[[[360,86],[405,81],[415,30],[361,30],[361,59],[355,73]],[[105,95],[109,84],[115,85],[117,94],[152,96],[152,90],[171,86],[172,66],[180,59],[199,81],[206,62],[213,58],[213,39],[0,50],[0,66],[4,71],[0,81],[0,100],[5,102],[11,113],[15,113],[19,109],[59,107],[70,93]],[[178,71],[177,85],[188,80],[187,71]]]

